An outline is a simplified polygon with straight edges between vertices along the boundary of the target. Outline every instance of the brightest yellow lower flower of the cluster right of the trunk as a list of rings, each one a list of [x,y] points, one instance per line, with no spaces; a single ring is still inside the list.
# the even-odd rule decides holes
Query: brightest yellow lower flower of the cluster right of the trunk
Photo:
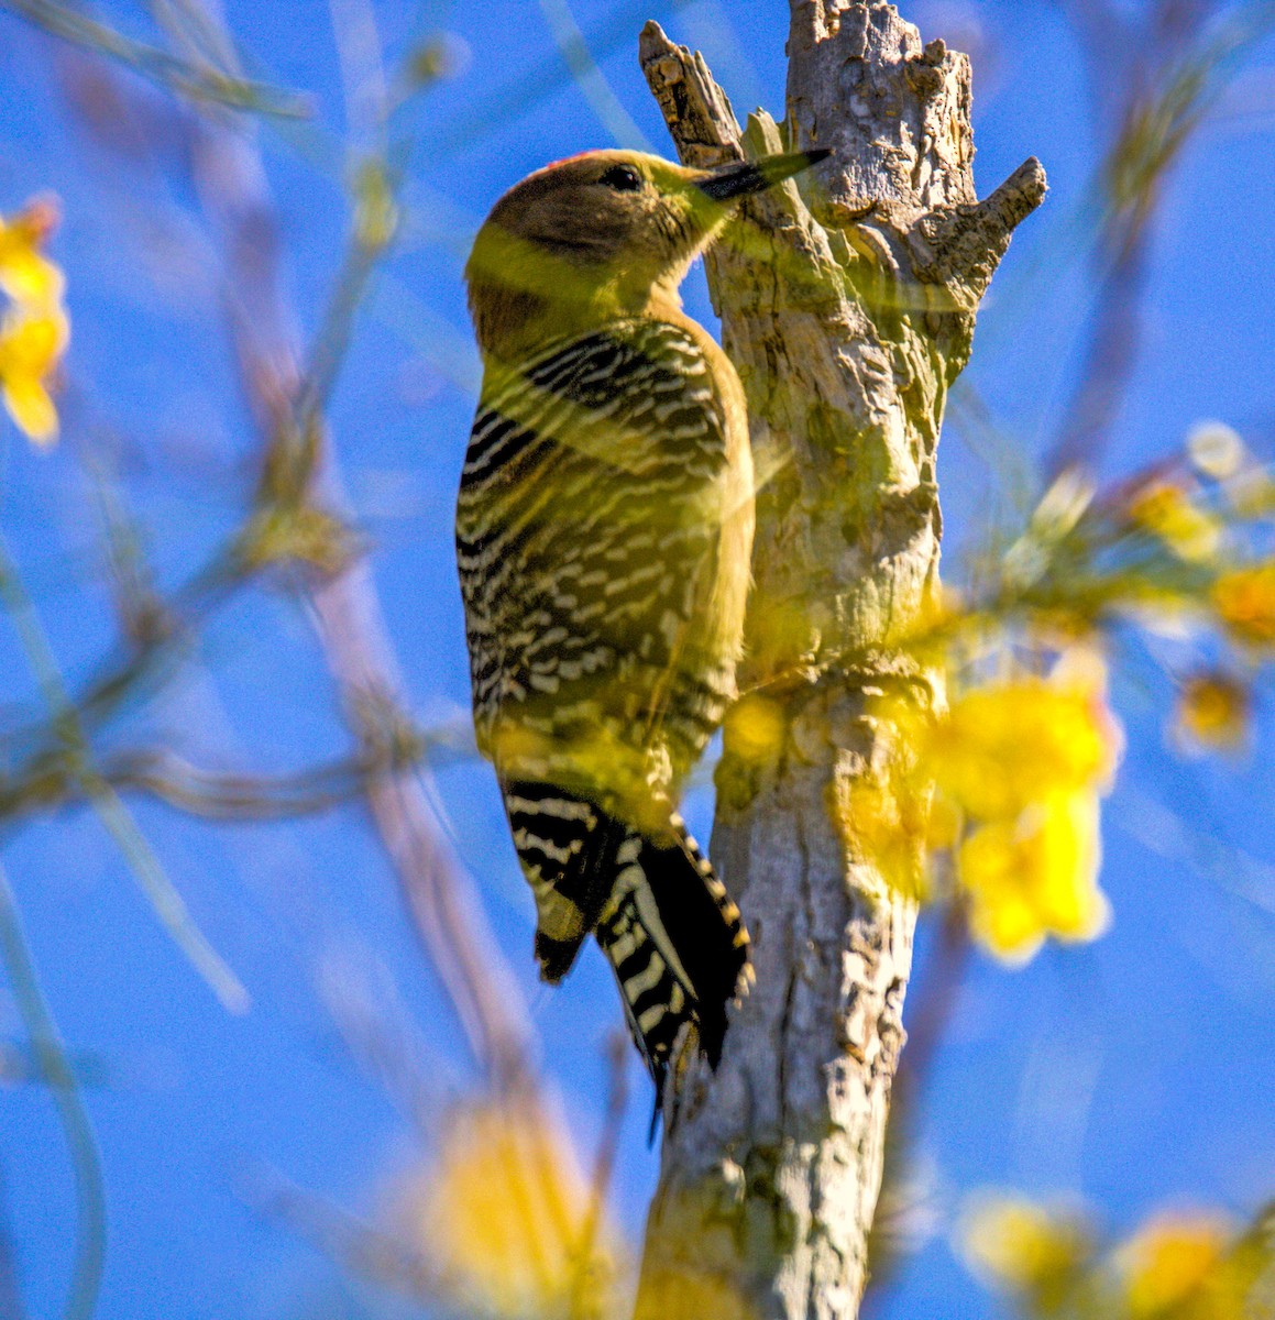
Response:
[[[1055,793],[975,829],[957,854],[970,933],[1011,964],[1027,962],[1051,935],[1097,939],[1111,916],[1099,855],[1098,799],[1088,791]]]

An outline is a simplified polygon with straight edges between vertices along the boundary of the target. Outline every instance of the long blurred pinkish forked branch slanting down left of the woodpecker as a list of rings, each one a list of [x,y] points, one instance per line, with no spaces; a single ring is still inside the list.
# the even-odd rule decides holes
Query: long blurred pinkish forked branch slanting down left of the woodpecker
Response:
[[[214,20],[215,21],[215,20]],[[318,416],[339,368],[367,271],[393,232],[393,197],[383,210],[356,198],[346,275],[309,354],[298,368],[292,315],[281,292],[273,210],[255,147],[243,135],[205,121],[193,150],[195,186],[222,235],[227,285],[251,289],[260,313],[232,309],[231,338],[264,440],[264,469],[289,473],[289,498],[342,519],[346,500],[335,454]],[[392,173],[383,168],[380,185]],[[261,494],[278,495],[269,482]],[[318,638],[360,744],[407,723],[408,701],[376,586],[366,561],[344,557],[327,573],[302,574]],[[371,776],[368,805],[399,874],[417,932],[474,1056],[498,1086],[529,1076],[531,1024],[517,983],[496,945],[469,876],[436,829],[424,771]]]

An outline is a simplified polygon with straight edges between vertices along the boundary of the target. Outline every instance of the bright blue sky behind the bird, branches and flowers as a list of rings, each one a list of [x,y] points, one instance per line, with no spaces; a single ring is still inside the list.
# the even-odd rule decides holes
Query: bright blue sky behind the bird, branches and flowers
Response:
[[[781,108],[784,8],[777,0],[577,0],[574,13],[627,115],[655,149],[668,150],[636,63],[641,21],[657,17],[700,46],[742,115],[758,103]],[[957,572],[1003,477],[978,458],[978,437],[962,433],[958,418],[986,408],[1010,450],[1030,462],[1047,447],[1074,380],[1092,292],[1086,187],[1098,139],[1078,50],[1052,5],[901,8],[925,37],[960,44],[971,22],[982,32],[979,190],[1028,154],[1044,161],[1051,181],[1047,205],[1019,231],[989,296],[944,440],[940,477]],[[135,36],[150,34],[140,7],[99,12]],[[329,8],[232,0],[227,16],[257,75],[314,98],[317,131],[256,129],[289,294],[308,335],[321,321],[347,220],[347,124]],[[403,240],[359,315],[330,420],[414,710],[432,723],[463,714],[467,701],[450,548],[476,370],[459,282],[467,242],[523,174],[614,139],[572,83],[537,4],[377,4],[376,16],[391,54],[413,34],[450,33],[457,73],[405,112],[418,141]],[[121,165],[86,140],[67,107],[67,83],[84,83],[65,48],[0,13],[0,211],[42,190],[62,198],[53,251],[67,273],[75,327],[63,445],[36,454],[12,428],[0,430],[0,528],[74,680],[108,652],[115,627],[83,455],[104,455],[117,469],[158,581],[172,587],[235,525],[251,496],[255,442],[174,148],[150,139],[150,165]],[[143,107],[162,104],[121,77],[140,88]],[[1205,417],[1234,425],[1270,458],[1272,79],[1267,42],[1172,176],[1154,246],[1147,339],[1107,475],[1179,447]],[[700,271],[688,306],[711,321]],[[8,626],[0,676],[5,727],[30,719],[36,690]],[[975,1187],[1076,1193],[1118,1229],[1164,1204],[1243,1213],[1275,1193],[1270,758],[1179,759],[1163,733],[1168,685],[1146,657],[1122,671],[1114,694],[1128,739],[1105,824],[1114,927],[1090,948],[1049,949],[1023,972],[973,961],[916,1119],[938,1229],[883,1299],[879,1320],[987,1315],[986,1295],[946,1238],[954,1206]],[[1270,713],[1259,721],[1268,737]],[[300,603],[284,591],[236,599],[172,681],[111,727],[107,746],[160,735],[220,766],[282,771],[339,755],[339,711]],[[447,768],[438,788],[527,991],[546,1068],[590,1151],[603,1105],[602,1048],[619,1020],[610,975],[590,954],[562,990],[536,985],[531,902],[490,774]],[[690,805],[706,837],[707,796],[694,795]],[[245,1016],[219,1007],[90,814],[29,818],[0,836],[63,1036],[104,1074],[88,1094],[110,1210],[100,1316],[405,1313],[342,1282],[313,1249],[255,1213],[245,1192],[275,1171],[371,1213],[418,1148],[404,1115],[342,1045],[325,983],[344,977],[381,1003],[392,986],[393,1012],[418,1034],[440,1074],[433,1081],[443,1089],[466,1082],[463,1067],[447,1063],[457,1056],[454,1027],[363,814],[348,808],[285,826],[214,828],[152,803],[133,807],[253,1006]],[[1176,829],[1218,840],[1221,851],[1192,865]],[[1239,853],[1258,863],[1242,876]],[[1239,879],[1245,895],[1235,892]],[[931,944],[927,927],[921,982]],[[5,991],[0,1036],[21,1039]],[[656,1162],[644,1140],[636,1059],[631,1073],[615,1209],[636,1234]],[[70,1266],[74,1200],[54,1110],[38,1088],[0,1096],[0,1189],[30,1313],[50,1315]]]

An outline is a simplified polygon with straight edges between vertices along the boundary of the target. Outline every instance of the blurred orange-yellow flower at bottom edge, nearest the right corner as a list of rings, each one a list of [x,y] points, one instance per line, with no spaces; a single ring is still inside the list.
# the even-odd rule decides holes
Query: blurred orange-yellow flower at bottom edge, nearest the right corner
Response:
[[[1132,1320],[1165,1315],[1201,1292],[1230,1237],[1230,1225],[1217,1214],[1163,1214],[1146,1224],[1117,1254]]]

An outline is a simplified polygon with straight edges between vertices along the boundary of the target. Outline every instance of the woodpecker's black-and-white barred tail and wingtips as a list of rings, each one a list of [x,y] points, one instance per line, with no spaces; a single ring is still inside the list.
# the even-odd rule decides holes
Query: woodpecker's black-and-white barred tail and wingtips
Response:
[[[541,975],[561,979],[595,932],[659,1110],[686,1024],[709,1063],[721,1059],[726,1006],[748,966],[739,908],[677,814],[653,840],[554,785],[508,783],[504,795],[536,894]]]

